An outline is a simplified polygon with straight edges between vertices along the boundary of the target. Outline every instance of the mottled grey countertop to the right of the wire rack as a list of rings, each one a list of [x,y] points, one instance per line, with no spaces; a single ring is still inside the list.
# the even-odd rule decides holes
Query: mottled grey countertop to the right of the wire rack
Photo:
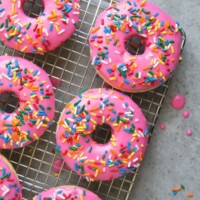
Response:
[[[199,0],[151,0],[152,3],[177,19],[187,34],[183,61],[173,77],[157,127],[149,144],[146,157],[139,170],[130,199],[134,200],[185,200],[192,192],[200,199],[200,1]],[[176,93],[186,96],[185,109],[191,117],[184,119],[182,111],[170,106]],[[159,124],[165,122],[166,130],[160,131]],[[186,135],[191,128],[193,135]],[[173,197],[171,188],[186,187]]]

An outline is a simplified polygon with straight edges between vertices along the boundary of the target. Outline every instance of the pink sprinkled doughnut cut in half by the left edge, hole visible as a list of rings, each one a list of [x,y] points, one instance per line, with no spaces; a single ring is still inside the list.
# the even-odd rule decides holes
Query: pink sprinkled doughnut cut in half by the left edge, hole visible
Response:
[[[0,109],[0,149],[20,148],[38,140],[52,124],[55,100],[43,69],[18,57],[0,57],[0,95],[12,92],[19,107]]]

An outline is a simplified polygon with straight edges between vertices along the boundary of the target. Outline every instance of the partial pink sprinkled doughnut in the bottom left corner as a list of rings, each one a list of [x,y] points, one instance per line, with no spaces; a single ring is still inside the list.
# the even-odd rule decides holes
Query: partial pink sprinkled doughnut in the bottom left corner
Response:
[[[22,187],[11,163],[0,154],[0,199],[21,200]]]

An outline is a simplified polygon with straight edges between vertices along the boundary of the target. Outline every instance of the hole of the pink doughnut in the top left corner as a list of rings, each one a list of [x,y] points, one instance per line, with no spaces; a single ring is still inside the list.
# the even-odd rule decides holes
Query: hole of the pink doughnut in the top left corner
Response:
[[[28,17],[37,18],[44,11],[43,0],[24,0],[22,8]]]

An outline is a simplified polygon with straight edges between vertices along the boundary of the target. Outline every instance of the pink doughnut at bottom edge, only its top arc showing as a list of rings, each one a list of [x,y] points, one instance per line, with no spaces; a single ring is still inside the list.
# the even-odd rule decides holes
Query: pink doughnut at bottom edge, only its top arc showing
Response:
[[[47,191],[40,193],[38,196],[35,196],[33,200],[100,200],[100,198],[86,190],[84,188],[73,186],[73,185],[64,185],[56,188],[51,188]]]

